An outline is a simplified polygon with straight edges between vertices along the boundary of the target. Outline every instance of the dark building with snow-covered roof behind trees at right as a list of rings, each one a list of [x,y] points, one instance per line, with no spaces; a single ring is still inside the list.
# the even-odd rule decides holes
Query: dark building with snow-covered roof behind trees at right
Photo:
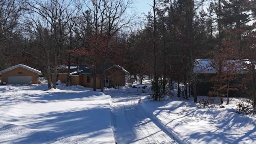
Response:
[[[246,62],[244,60],[243,62]],[[234,70],[237,74],[244,74],[246,71],[243,68],[243,62],[241,60],[226,60],[226,63],[234,64]],[[194,61],[194,74],[197,75],[198,82],[196,83],[196,93],[198,96],[208,96],[208,92],[213,90],[212,87],[214,84],[211,81],[211,78],[218,74],[214,66],[214,60],[209,59],[196,59]],[[226,67],[222,68],[222,71],[227,70]],[[230,96],[236,96],[238,92],[229,92]],[[193,94],[193,88],[191,88],[191,94]]]

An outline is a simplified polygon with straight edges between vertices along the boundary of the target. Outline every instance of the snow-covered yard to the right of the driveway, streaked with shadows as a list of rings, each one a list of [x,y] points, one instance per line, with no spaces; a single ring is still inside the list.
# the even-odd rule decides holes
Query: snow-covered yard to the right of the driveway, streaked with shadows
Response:
[[[162,102],[147,98],[140,101],[144,110],[185,144],[256,143],[256,116],[236,113],[236,98],[225,108],[200,108],[193,97]]]

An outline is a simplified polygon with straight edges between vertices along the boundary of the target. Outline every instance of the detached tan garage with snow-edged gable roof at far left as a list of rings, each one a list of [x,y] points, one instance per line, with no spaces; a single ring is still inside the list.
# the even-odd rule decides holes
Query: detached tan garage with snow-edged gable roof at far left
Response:
[[[41,74],[39,70],[24,64],[17,64],[0,71],[2,84],[38,84],[38,75]]]

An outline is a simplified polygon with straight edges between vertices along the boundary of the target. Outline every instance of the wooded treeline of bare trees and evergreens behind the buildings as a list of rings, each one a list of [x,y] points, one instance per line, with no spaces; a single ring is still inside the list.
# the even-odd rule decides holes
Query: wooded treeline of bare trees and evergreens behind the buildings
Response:
[[[157,100],[165,93],[166,79],[178,83],[178,96],[189,96],[188,87],[198,82],[195,59],[215,60],[219,75],[213,82],[222,96],[234,79],[230,71],[223,72],[225,60],[249,59],[240,87],[255,106],[255,0],[149,4],[152,11],[142,20],[132,9],[133,0],[0,0],[0,70],[22,63],[42,70],[50,81],[58,65],[78,62],[93,65],[94,78],[102,68],[104,80],[107,66],[119,64],[131,74],[154,78]],[[180,83],[187,87],[184,92]]]

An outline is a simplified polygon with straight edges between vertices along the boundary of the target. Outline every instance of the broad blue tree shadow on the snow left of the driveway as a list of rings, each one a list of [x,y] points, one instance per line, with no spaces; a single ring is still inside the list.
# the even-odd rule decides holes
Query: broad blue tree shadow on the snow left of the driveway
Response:
[[[80,136],[80,141],[90,140],[92,137],[106,133],[110,128],[109,108],[95,108],[90,110],[78,110],[70,112],[50,112],[30,118],[31,124],[24,125],[26,128],[35,129],[36,132],[12,140],[13,144],[50,143],[72,136]],[[90,134],[89,134],[90,133]],[[8,141],[6,141],[8,142]],[[108,142],[104,142],[108,143]]]

